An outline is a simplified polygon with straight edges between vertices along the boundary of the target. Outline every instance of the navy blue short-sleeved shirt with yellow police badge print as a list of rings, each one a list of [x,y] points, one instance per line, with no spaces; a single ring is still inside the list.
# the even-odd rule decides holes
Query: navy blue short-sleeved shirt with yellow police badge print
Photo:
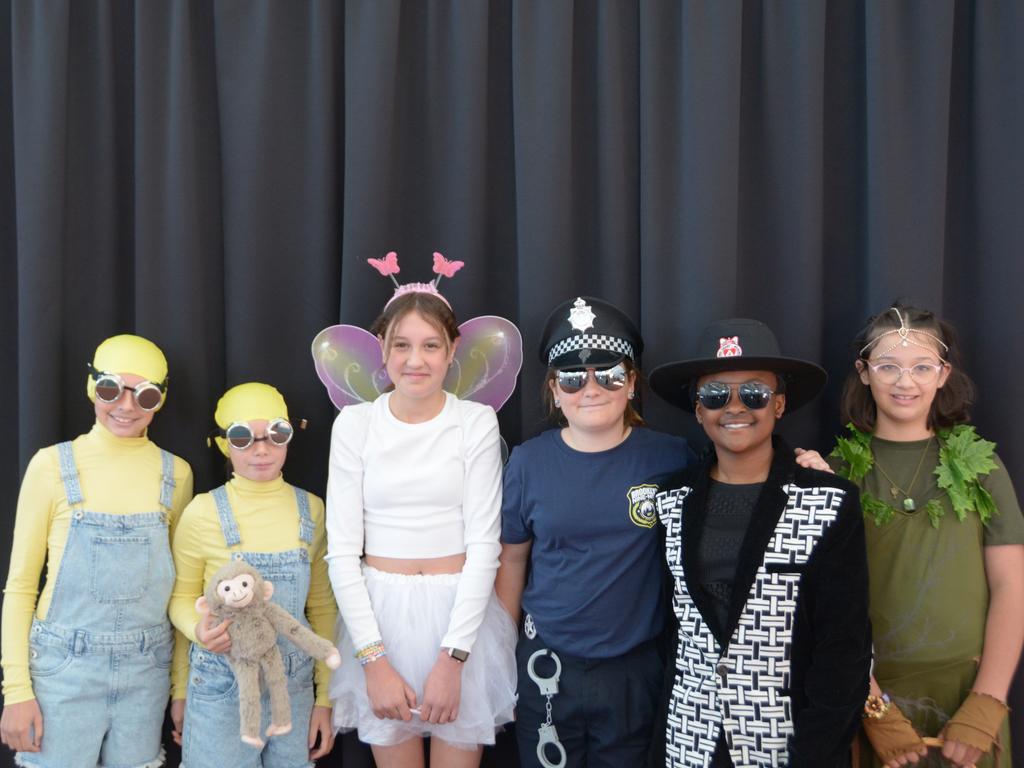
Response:
[[[523,610],[552,648],[608,658],[662,631],[654,494],[692,461],[685,439],[644,427],[593,454],[570,449],[558,429],[512,451],[502,541],[532,542]]]

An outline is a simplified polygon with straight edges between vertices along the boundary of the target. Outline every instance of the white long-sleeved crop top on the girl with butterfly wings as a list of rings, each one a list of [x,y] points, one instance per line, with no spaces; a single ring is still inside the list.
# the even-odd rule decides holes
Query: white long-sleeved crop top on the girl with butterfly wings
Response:
[[[498,570],[501,449],[494,409],[445,393],[419,424],[390,393],[342,409],[331,434],[328,570],[341,616],[361,648],[380,639],[359,567],[364,553],[410,559],[465,552],[442,647],[471,650]]]

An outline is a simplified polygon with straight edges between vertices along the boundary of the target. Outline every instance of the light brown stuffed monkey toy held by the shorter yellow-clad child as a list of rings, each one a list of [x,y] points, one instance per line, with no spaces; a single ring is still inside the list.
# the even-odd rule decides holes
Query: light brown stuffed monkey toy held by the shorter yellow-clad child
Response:
[[[196,610],[212,613],[224,621],[231,649],[224,655],[239,683],[239,715],[242,740],[261,748],[260,738],[260,670],[270,691],[270,725],[266,736],[276,736],[292,730],[292,705],[288,695],[285,665],[278,650],[278,635],[332,670],[341,665],[338,649],[330,642],[303,627],[280,605],[270,602],[273,585],[264,581],[259,571],[244,560],[233,560],[214,573],[206,594],[196,601]]]

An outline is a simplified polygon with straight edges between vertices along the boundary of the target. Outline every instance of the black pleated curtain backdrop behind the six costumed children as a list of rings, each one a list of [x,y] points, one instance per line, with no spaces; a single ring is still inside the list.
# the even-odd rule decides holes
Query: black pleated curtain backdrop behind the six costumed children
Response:
[[[309,343],[372,321],[391,249],[406,281],[465,260],[460,316],[519,324],[510,443],[541,427],[566,298],[634,315],[648,369],[711,318],[766,321],[833,376],[782,427],[827,447],[848,340],[905,296],[962,330],[976,421],[1024,476],[1020,3],[0,0],[0,542],[117,332],[167,352],[152,435],[197,490],[217,396],[256,379],[311,420],[287,475],[322,493]]]

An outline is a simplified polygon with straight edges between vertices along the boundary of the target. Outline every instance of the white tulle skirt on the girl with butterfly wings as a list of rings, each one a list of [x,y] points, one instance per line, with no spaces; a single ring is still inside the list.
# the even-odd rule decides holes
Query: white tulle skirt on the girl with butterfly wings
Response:
[[[369,565],[362,567],[362,574],[388,662],[421,701],[423,685],[447,632],[461,574],[404,575]],[[512,620],[492,593],[472,653],[462,670],[459,717],[454,723],[435,725],[414,715],[407,723],[380,720],[370,709],[362,667],[353,657],[352,639],[341,624],[338,649],[342,662],[331,678],[335,727],[358,729],[361,741],[384,746],[426,735],[465,749],[493,744],[496,731],[513,718],[517,638]]]

